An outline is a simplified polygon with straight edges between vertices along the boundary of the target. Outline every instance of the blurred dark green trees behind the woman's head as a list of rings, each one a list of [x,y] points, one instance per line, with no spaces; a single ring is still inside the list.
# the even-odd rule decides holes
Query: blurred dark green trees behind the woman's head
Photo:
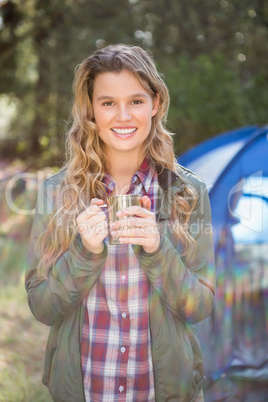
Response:
[[[75,66],[111,43],[151,50],[170,89],[177,152],[267,122],[262,0],[9,0],[0,10],[0,94],[17,111],[0,127],[2,156],[61,164]]]

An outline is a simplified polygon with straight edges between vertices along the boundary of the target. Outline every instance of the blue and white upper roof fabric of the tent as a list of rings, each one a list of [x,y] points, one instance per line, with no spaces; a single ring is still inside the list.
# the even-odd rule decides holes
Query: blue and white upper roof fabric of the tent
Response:
[[[235,186],[245,177],[268,176],[268,128],[256,126],[234,130],[198,145],[178,158],[178,162],[197,173],[207,184],[213,217],[214,243],[217,245],[222,227],[229,217],[229,204],[237,194]],[[229,158],[228,146],[231,151]],[[239,147],[238,147],[239,146]],[[221,149],[223,159],[221,159]],[[213,153],[217,157],[213,157]],[[198,163],[198,159],[199,162]],[[211,160],[213,159],[213,164]],[[205,173],[204,173],[205,172]]]

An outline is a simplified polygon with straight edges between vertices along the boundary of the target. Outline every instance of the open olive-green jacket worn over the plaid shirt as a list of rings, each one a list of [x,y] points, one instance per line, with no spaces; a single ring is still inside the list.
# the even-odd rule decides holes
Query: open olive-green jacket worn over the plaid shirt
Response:
[[[39,190],[26,271],[28,303],[37,320],[51,326],[43,383],[54,401],[84,402],[80,362],[83,299],[103,270],[107,248],[100,255],[88,252],[79,235],[57,261],[48,279],[38,276],[40,250],[36,239],[47,226],[53,209],[53,193],[64,172],[45,180]],[[156,217],[161,242],[151,254],[133,246],[150,281],[150,330],[157,402],[195,401],[205,376],[199,342],[191,324],[206,318],[214,296],[214,254],[211,213],[206,186],[191,171],[158,170],[159,197]],[[190,183],[198,202],[190,217],[196,255],[188,267],[180,257],[181,246],[172,234],[170,220],[174,195]]]

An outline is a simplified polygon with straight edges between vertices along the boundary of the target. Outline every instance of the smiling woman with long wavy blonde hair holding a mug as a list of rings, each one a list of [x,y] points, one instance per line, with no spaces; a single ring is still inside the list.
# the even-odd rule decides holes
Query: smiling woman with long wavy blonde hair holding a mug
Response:
[[[32,313],[51,326],[43,383],[54,401],[203,400],[191,324],[211,311],[206,186],[176,164],[167,88],[137,46],[77,68],[63,169],[41,186],[28,255]],[[103,204],[141,194],[107,241]]]

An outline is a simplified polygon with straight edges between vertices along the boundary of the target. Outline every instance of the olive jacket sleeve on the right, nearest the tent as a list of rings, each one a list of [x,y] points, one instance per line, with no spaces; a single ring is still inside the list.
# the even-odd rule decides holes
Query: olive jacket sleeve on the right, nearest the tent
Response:
[[[139,246],[133,247],[153,291],[175,316],[189,324],[202,321],[210,314],[215,291],[211,211],[204,183],[198,193],[197,204],[189,219],[190,233],[197,243],[190,263],[186,265],[180,256],[172,233],[173,241],[161,234],[160,245],[153,253],[148,254]],[[169,230],[172,232],[172,228]]]

